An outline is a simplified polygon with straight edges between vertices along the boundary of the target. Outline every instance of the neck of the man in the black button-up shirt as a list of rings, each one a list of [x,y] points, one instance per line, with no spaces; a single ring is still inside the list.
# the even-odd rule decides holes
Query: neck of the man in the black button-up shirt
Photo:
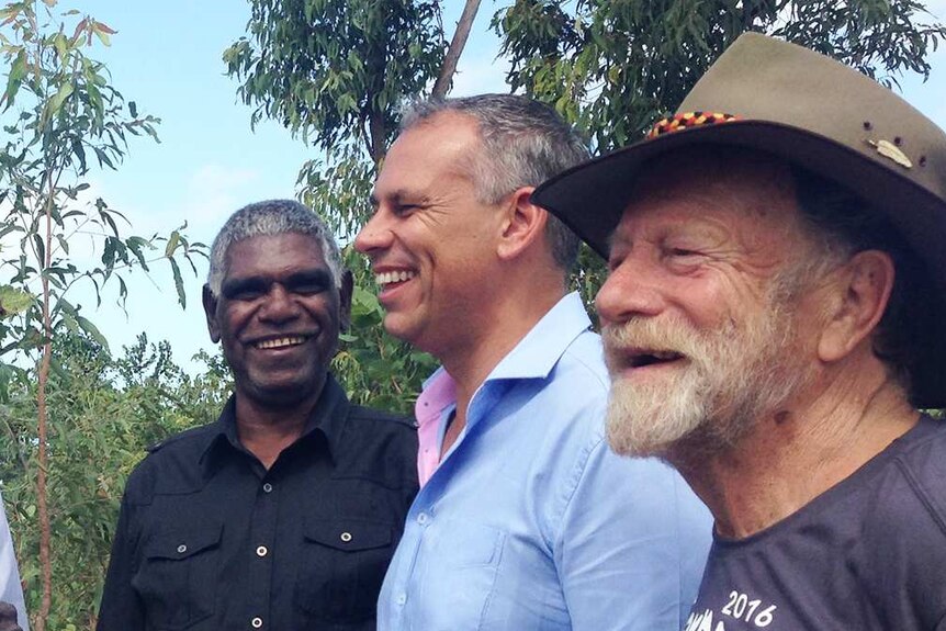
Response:
[[[314,396],[285,407],[267,405],[237,392],[236,427],[240,444],[269,469],[282,450],[302,436],[324,390],[323,385]]]

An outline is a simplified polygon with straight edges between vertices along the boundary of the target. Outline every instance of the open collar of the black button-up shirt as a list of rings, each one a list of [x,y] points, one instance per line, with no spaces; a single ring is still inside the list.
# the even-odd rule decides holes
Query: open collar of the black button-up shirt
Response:
[[[348,418],[349,405],[345,391],[335,380],[335,376],[328,373],[325,379],[325,385],[322,388],[322,394],[305,422],[302,436],[299,437],[295,443],[308,440],[314,432],[318,431],[326,438],[329,455],[335,459],[344,425]],[[211,426],[211,431],[207,432],[206,446],[201,451],[200,462],[213,462],[211,455],[225,444],[237,451],[248,453],[246,448],[240,444],[239,437],[237,436],[236,395],[230,395],[216,422]]]

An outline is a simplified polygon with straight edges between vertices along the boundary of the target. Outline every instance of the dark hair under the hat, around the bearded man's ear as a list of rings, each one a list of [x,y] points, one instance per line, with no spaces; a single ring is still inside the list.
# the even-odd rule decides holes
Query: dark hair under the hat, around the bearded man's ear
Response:
[[[791,173],[802,224],[823,250],[841,250],[845,258],[880,250],[893,260],[893,290],[874,336],[874,353],[914,398],[911,375],[930,352],[924,331],[935,330],[937,317],[926,266],[892,222],[859,195],[801,167],[792,166]]]

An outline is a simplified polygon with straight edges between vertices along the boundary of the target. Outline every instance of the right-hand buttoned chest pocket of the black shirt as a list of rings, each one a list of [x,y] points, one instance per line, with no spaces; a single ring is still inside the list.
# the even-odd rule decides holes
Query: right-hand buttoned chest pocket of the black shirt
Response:
[[[313,620],[358,622],[374,618],[378,593],[394,553],[391,523],[309,520],[305,523],[297,606]]]

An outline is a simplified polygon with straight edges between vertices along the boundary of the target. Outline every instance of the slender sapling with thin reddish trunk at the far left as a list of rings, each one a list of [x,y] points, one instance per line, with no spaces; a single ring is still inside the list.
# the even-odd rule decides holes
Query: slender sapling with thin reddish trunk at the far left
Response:
[[[81,305],[66,300],[69,290],[89,281],[101,302],[101,289],[117,282],[119,302],[127,288],[122,272],[133,267],[147,271],[157,259],[169,261],[184,304],[183,283],[176,257],[191,261],[200,244],[190,244],[180,230],[168,237],[123,237],[124,217],[102,199],[82,204],[85,181],[94,164],[116,168],[127,149],[128,136],[157,139],[153,116],[138,115],[134,101],[125,102],[109,82],[102,64],[85,54],[93,41],[109,44],[114,31],[77,11],[54,13],[56,0],[11,2],[0,10],[0,54],[9,65],[7,86],[0,95],[5,145],[0,148],[0,209],[5,222],[0,238],[13,253],[4,252],[0,268],[11,278],[2,288],[3,312],[15,314],[0,322],[0,354],[35,359],[36,371],[36,508],[41,525],[38,556],[43,596],[35,628],[44,631],[53,598],[50,557],[52,523],[47,482],[53,474],[47,449],[47,383],[57,369],[54,339],[64,331],[86,331],[100,343],[104,338],[81,313]],[[68,31],[66,22],[74,24]],[[101,248],[100,260],[81,269],[77,246]],[[196,270],[194,270],[196,271]],[[10,378],[10,364],[0,381]],[[0,384],[0,388],[4,387]]]

